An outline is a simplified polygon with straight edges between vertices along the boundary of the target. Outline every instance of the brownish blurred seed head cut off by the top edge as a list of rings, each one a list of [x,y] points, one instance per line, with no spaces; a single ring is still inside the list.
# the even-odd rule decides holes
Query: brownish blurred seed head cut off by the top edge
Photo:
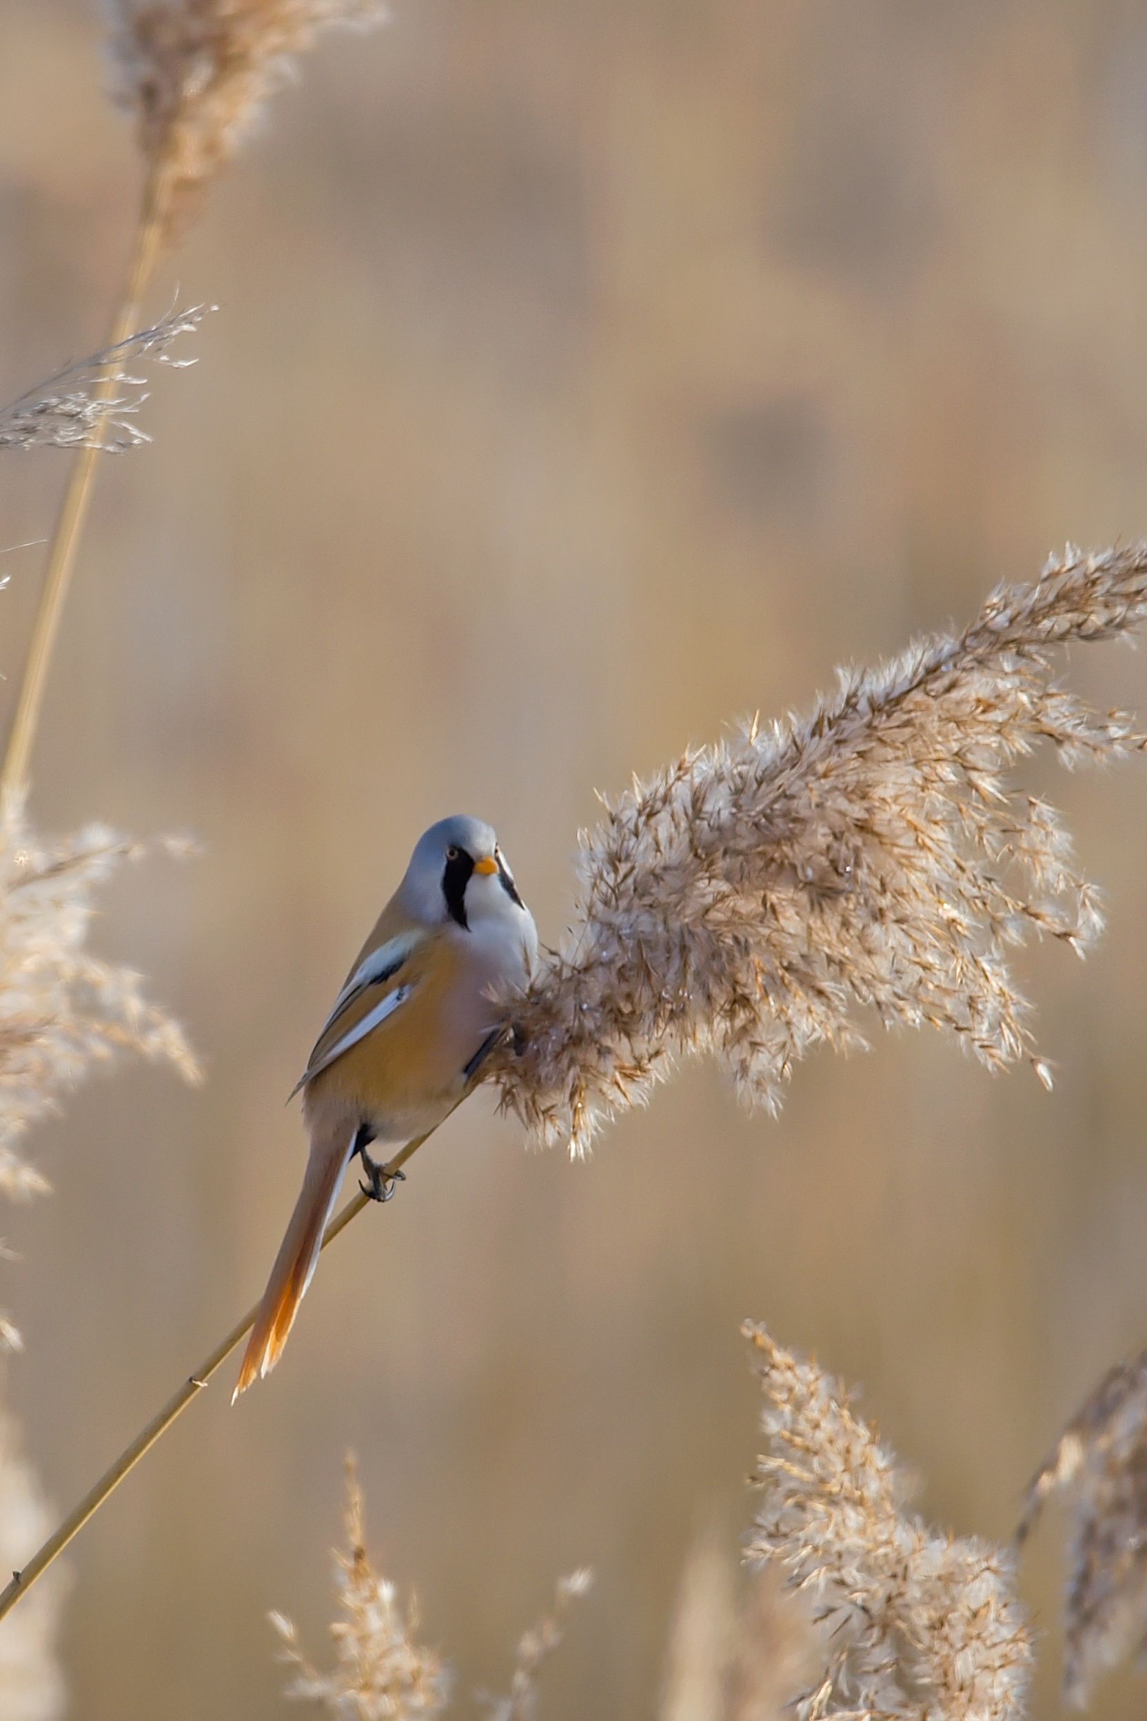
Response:
[[[163,182],[169,232],[230,160],[294,59],[327,29],[368,28],[377,0],[105,0],[113,93]]]

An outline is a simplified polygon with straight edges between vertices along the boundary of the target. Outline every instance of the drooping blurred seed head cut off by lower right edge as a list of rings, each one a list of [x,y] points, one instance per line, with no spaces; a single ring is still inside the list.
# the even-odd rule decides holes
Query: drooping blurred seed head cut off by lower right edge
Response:
[[[1147,1351],[1111,1368],[1028,1487],[1016,1539],[1044,1501],[1071,1499],[1063,1690],[1083,1707],[1104,1668],[1147,1640]]]

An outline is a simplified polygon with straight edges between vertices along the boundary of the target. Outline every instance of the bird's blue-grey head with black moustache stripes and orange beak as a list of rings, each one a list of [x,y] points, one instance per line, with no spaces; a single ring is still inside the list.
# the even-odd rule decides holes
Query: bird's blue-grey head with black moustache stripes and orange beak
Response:
[[[464,931],[476,921],[528,912],[494,826],[463,812],[439,819],[418,838],[399,902],[423,922],[452,921]]]

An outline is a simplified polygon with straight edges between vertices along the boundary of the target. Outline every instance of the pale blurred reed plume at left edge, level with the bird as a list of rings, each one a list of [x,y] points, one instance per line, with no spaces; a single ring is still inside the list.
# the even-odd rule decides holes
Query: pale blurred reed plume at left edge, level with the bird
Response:
[[[0,1194],[46,1189],[21,1138],[93,1064],[136,1052],[198,1079],[182,1029],[148,1003],[141,978],[88,950],[96,886],[143,854],[98,824],[45,845],[15,805],[0,816]]]

